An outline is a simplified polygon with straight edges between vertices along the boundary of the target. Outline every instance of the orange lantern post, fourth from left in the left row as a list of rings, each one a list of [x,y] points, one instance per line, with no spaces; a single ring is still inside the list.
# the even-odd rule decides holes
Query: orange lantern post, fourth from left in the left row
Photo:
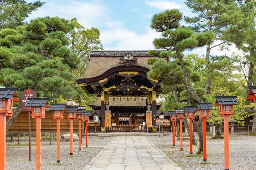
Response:
[[[70,155],[73,155],[73,119],[75,119],[75,114],[77,112],[78,106],[66,106],[68,119],[70,120]]]

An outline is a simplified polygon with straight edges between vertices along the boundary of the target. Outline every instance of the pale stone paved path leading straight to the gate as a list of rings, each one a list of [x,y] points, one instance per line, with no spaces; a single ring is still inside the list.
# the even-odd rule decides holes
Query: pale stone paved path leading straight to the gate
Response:
[[[144,136],[114,137],[84,170],[171,170],[178,167]]]

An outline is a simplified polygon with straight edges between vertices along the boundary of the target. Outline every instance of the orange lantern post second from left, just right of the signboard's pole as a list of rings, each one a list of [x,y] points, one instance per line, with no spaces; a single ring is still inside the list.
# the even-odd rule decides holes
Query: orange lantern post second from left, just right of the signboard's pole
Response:
[[[48,98],[28,98],[27,107],[31,107],[32,118],[37,122],[37,170],[41,169],[41,118],[45,118],[45,106]]]

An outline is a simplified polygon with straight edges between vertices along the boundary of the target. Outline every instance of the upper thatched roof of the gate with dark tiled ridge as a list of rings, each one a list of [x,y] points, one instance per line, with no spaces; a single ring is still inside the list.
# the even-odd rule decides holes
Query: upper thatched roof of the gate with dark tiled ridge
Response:
[[[103,74],[110,68],[119,65],[119,58],[127,53],[131,53],[137,57],[138,66],[146,67],[150,69],[150,65],[147,65],[148,58],[153,57],[148,54],[147,51],[104,51],[104,50],[90,50],[89,56],[86,58],[85,73],[80,79],[87,79],[96,77]]]

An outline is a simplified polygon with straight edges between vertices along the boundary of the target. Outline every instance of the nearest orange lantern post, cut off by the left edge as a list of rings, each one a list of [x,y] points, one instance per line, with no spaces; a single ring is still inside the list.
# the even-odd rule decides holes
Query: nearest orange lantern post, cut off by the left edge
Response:
[[[18,88],[0,88],[0,169],[6,169],[6,116],[12,116],[13,102],[19,102]]]

